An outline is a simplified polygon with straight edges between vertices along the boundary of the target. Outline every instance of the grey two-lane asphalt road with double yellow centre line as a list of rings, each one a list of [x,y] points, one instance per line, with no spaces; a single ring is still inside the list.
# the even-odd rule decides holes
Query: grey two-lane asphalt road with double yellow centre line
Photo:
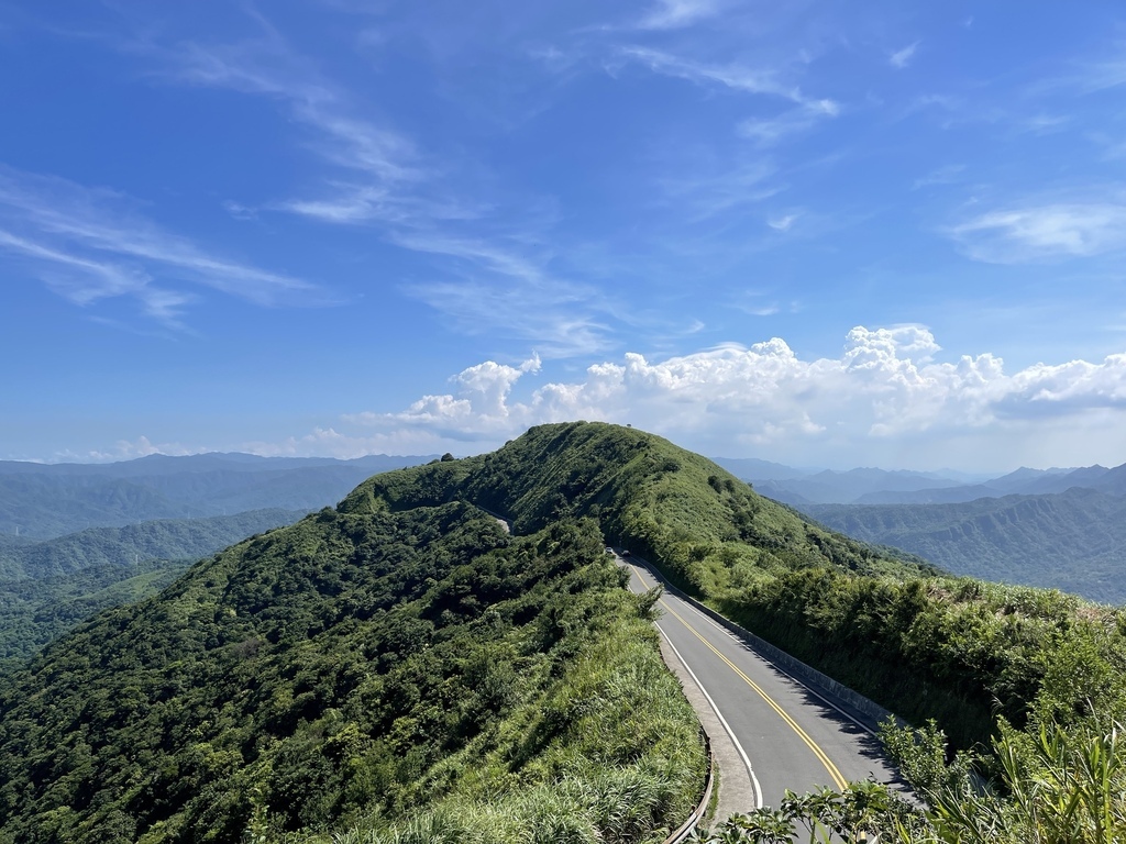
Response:
[[[633,591],[658,584],[641,560],[618,560],[631,569]],[[840,789],[854,780],[895,781],[879,742],[842,709],[771,665],[687,601],[665,593],[658,605],[658,628],[749,769],[757,806],[742,811],[777,807],[786,789],[801,794],[821,785]]]

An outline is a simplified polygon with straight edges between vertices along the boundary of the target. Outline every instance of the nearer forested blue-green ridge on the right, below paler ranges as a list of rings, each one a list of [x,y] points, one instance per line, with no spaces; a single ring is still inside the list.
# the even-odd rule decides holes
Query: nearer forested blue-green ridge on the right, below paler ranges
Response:
[[[1073,488],[960,504],[804,508],[834,530],[905,548],[957,574],[1126,603],[1126,497]]]

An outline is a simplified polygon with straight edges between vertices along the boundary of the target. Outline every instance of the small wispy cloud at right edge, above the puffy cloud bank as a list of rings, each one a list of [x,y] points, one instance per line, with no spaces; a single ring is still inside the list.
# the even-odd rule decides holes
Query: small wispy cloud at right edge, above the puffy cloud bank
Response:
[[[986,212],[948,230],[971,258],[1029,263],[1126,249],[1126,204],[1028,204]]]

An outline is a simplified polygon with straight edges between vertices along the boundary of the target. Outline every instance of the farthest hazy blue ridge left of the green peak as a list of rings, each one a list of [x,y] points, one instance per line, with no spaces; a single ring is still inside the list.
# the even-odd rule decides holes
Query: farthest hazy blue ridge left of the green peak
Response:
[[[318,510],[360,481],[432,456],[355,460],[208,454],[115,464],[0,461],[0,535],[50,539],[92,527],[249,510]],[[0,545],[0,547],[3,547]]]

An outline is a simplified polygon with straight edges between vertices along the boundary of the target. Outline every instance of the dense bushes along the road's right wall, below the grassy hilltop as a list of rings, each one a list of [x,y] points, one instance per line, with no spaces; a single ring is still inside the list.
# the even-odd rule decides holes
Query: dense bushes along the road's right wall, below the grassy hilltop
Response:
[[[1126,718],[1126,613],[968,578],[796,571],[715,600],[727,616],[959,747],[997,716]]]

